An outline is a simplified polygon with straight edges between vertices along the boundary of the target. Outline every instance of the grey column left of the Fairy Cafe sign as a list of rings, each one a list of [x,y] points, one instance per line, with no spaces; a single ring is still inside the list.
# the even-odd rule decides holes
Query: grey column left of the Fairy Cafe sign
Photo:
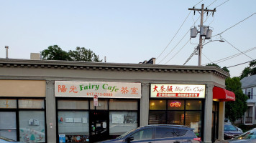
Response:
[[[56,142],[56,109],[54,81],[46,81],[46,124],[47,142]]]

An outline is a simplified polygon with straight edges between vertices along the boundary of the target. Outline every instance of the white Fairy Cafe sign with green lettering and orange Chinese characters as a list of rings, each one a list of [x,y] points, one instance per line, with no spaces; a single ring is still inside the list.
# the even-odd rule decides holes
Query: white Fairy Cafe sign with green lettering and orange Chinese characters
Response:
[[[140,98],[140,83],[55,81],[55,97]]]

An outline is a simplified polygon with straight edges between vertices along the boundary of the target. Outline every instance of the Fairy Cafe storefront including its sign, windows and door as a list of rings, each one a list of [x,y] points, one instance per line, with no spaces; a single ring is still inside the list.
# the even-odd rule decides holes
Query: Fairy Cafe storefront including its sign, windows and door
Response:
[[[139,126],[140,83],[55,81],[55,97],[59,142],[114,139]]]

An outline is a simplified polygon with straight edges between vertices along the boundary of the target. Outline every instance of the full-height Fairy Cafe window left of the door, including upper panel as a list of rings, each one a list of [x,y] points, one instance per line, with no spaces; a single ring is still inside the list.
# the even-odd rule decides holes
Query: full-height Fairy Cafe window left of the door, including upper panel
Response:
[[[60,142],[89,141],[89,102],[58,99],[58,137]]]

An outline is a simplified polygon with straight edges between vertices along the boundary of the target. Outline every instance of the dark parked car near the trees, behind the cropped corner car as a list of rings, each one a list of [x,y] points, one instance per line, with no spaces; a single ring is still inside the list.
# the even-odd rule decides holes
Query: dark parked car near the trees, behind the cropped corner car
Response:
[[[234,125],[224,124],[224,139],[233,139],[234,137],[238,137],[240,134],[242,134],[242,132]]]

